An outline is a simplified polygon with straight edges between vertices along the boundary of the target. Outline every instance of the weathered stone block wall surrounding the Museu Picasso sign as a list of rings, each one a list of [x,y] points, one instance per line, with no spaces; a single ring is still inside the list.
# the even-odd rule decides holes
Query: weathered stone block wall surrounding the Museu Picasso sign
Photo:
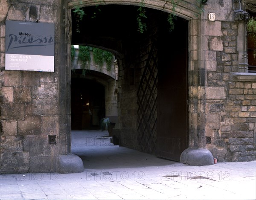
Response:
[[[60,3],[1,0],[1,173],[56,171],[57,156],[67,154],[67,134],[59,134]],[[55,23],[55,72],[4,70],[5,20]]]

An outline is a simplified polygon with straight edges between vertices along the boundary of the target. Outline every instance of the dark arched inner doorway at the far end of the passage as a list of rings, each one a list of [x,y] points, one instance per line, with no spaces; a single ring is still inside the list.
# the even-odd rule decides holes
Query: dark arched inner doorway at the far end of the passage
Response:
[[[105,118],[105,87],[86,78],[72,78],[71,83],[71,130],[99,130]]]

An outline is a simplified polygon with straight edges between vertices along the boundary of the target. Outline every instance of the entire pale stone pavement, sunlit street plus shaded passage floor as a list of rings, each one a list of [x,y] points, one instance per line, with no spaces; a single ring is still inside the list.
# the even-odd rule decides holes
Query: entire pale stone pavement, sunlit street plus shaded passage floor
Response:
[[[73,131],[76,174],[1,174],[0,199],[256,199],[256,162],[189,166],[110,143],[106,131]]]

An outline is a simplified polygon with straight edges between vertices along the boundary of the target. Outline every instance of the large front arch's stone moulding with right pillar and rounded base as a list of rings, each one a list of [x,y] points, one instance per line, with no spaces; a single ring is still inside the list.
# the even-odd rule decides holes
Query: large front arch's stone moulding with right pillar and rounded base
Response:
[[[67,21],[71,21],[71,9],[75,6],[95,6],[95,5],[132,5],[140,6],[136,0],[113,1],[105,0],[104,2],[95,3],[94,1],[79,0],[69,1],[67,3]],[[163,0],[145,2],[145,7],[160,10],[167,13],[174,12],[179,17],[189,20],[189,148],[181,155],[180,161],[190,165],[209,165],[213,164],[212,154],[205,149],[205,70],[204,70],[204,48],[201,30],[204,29],[200,19],[200,5],[198,1],[180,0],[175,6],[172,3]],[[71,24],[67,26],[66,34],[68,36],[67,49],[71,44]],[[99,44],[96,44],[99,45]],[[67,61],[69,63],[69,61]],[[68,64],[68,66],[70,66]],[[195,151],[196,150],[196,151]]]

